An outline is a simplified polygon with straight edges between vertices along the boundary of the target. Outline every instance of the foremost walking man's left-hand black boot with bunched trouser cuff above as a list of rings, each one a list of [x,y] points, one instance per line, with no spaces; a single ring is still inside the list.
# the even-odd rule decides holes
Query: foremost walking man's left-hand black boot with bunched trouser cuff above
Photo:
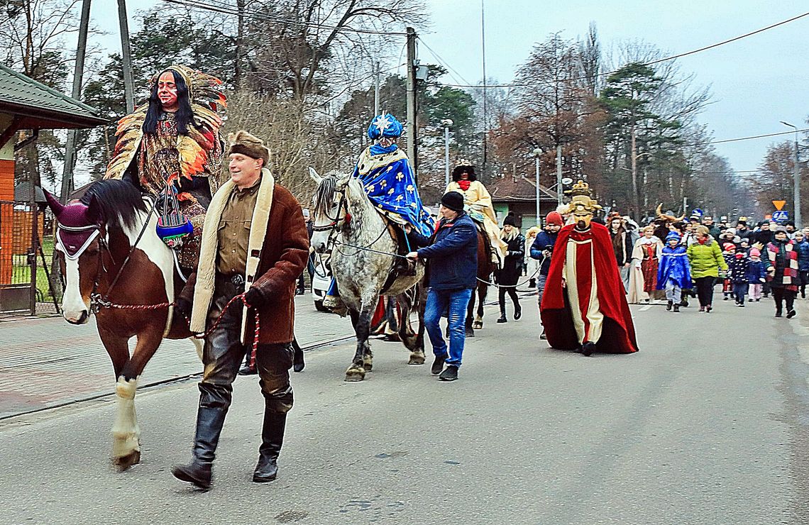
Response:
[[[172,474],[180,481],[188,481],[201,489],[210,489],[211,467],[231,392],[227,387],[200,383],[200,404],[197,409],[197,432],[194,434],[193,459],[187,465],[176,465]]]

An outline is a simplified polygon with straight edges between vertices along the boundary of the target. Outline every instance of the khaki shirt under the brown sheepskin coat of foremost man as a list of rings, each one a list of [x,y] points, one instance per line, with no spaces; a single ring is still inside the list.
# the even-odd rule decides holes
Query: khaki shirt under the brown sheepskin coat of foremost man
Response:
[[[244,275],[248,260],[248,241],[252,212],[261,180],[250,188],[233,188],[218,226],[219,251],[216,271],[227,276]]]

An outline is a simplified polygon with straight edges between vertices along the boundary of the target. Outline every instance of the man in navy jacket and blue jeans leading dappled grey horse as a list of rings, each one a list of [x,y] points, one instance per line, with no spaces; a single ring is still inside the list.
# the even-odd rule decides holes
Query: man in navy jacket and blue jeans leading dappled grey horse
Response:
[[[464,354],[466,307],[472,290],[477,286],[477,230],[472,218],[464,211],[464,196],[458,192],[447,192],[441,197],[438,216],[438,227],[430,237],[405,227],[411,244],[423,247],[407,256],[426,259],[429,263],[424,326],[435,354],[432,372],[442,381],[455,381]],[[438,325],[447,307],[450,332],[448,351]]]

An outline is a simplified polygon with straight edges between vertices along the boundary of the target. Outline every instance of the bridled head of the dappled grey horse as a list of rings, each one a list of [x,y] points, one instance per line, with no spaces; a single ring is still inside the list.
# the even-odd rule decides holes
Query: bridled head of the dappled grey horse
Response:
[[[315,195],[312,196],[312,235],[311,246],[318,253],[328,249],[333,235],[344,231],[351,222],[351,203],[365,193],[358,181],[350,173],[320,176],[313,167],[309,175],[315,181]]]

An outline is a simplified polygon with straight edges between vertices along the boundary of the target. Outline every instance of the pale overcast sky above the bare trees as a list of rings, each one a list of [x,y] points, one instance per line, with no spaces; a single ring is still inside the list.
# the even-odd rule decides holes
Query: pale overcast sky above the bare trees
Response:
[[[159,0],[129,0],[129,27],[139,27],[136,11]],[[430,28],[419,36],[469,83],[481,80],[481,0],[426,0]],[[552,32],[576,38],[596,23],[602,49],[609,53],[621,40],[645,40],[667,55],[683,53],[764,28],[809,11],[795,0],[485,0],[486,73],[508,83],[533,44]],[[118,44],[116,2],[94,2],[96,27],[110,34],[100,42]],[[807,57],[809,16],[743,40],[678,59],[696,82],[710,85],[714,104],[700,121],[714,139],[746,137],[788,130],[779,121],[809,127]],[[423,46],[419,57],[434,63]],[[449,77],[446,82],[453,82]],[[769,144],[791,138],[763,138],[718,144],[736,170],[759,166]]]

